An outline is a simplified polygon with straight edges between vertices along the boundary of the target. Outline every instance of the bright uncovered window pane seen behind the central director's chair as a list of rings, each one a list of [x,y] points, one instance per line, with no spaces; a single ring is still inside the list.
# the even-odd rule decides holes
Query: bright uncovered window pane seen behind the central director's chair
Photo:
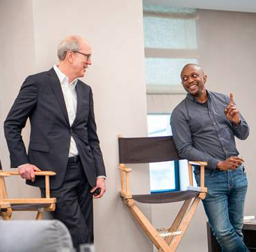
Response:
[[[171,135],[170,114],[148,114],[149,137]],[[150,192],[171,192],[179,190],[179,162],[150,163]]]

